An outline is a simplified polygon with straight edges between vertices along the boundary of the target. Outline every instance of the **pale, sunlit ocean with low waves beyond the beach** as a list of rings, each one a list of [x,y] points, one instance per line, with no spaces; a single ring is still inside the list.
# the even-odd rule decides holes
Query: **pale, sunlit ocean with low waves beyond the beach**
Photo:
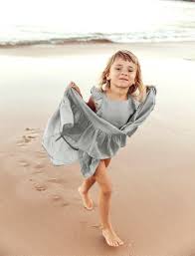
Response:
[[[78,6],[74,12],[72,11],[74,6],[69,6],[67,3],[60,6],[65,8],[64,12],[61,12],[60,9],[63,8],[60,8],[56,9],[56,14],[52,12],[55,11],[54,6],[51,10],[46,9],[45,12],[43,9],[37,9],[32,19],[28,19],[27,10],[26,15],[22,16],[25,11],[20,13],[20,8],[16,7],[18,11],[0,18],[0,47],[38,44],[55,46],[78,42],[195,40],[194,2],[121,1],[118,2],[119,5],[113,2],[109,6],[111,2],[108,0],[105,5],[106,10],[103,12],[99,2],[97,6],[91,4],[87,9],[85,9],[87,2],[83,0],[80,3],[84,3],[84,6]],[[35,11],[38,8],[35,5],[33,7]],[[33,10],[30,11],[33,12]],[[23,19],[19,19],[19,16]]]

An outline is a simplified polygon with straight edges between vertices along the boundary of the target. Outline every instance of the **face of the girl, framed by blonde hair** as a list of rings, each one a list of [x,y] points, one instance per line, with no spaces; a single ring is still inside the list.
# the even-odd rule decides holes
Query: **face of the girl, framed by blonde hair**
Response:
[[[110,86],[129,88],[135,83],[135,77],[136,65],[132,62],[117,58],[111,65],[106,79],[110,81]]]

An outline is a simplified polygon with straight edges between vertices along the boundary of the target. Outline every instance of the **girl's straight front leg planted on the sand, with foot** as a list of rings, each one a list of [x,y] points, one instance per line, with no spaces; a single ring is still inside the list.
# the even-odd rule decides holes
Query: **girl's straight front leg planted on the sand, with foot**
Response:
[[[100,160],[95,173],[96,180],[99,185],[99,214],[102,235],[110,246],[118,246],[123,244],[119,237],[113,231],[110,221],[110,199],[111,199],[111,182],[107,175],[104,160]]]

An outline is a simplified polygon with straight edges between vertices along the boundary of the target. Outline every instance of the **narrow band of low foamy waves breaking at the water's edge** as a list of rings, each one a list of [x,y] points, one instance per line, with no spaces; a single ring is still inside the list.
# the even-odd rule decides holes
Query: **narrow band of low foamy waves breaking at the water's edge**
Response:
[[[194,29],[194,28],[192,28]],[[28,38],[28,37],[27,37]],[[41,38],[41,39],[40,39]],[[0,48],[23,47],[33,45],[66,45],[66,44],[111,44],[111,43],[138,43],[138,42],[175,42],[175,41],[193,41],[195,34],[185,30],[180,31],[156,31],[156,32],[135,32],[135,33],[92,33],[92,34],[78,34],[77,36],[65,35],[64,37],[50,37],[39,34],[38,39],[15,39],[15,40],[0,40]]]

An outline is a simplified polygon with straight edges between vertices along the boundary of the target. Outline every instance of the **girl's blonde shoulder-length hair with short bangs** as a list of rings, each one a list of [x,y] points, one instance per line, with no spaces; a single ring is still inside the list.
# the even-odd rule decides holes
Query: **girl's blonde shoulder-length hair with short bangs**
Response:
[[[106,67],[104,68],[103,72],[101,73],[100,75],[100,79],[99,79],[99,83],[98,83],[98,86],[99,88],[104,91],[104,87],[109,87],[110,86],[110,83],[109,81],[106,80],[106,76],[108,75],[109,73],[109,70],[110,70],[110,67],[111,65],[113,64],[113,62],[115,61],[115,59],[117,58],[120,58],[124,61],[129,61],[129,62],[132,62],[133,64],[136,65],[136,76],[135,76],[135,84],[132,85],[130,88],[129,88],[129,91],[128,93],[131,95],[133,94],[137,89],[139,91],[139,94],[142,93],[143,91],[143,83],[142,83],[142,79],[141,79],[141,69],[140,69],[140,64],[138,62],[138,59],[137,57],[127,51],[127,50],[120,50],[120,51],[117,51],[115,54],[113,54],[109,59],[108,59],[108,62],[106,64]]]

